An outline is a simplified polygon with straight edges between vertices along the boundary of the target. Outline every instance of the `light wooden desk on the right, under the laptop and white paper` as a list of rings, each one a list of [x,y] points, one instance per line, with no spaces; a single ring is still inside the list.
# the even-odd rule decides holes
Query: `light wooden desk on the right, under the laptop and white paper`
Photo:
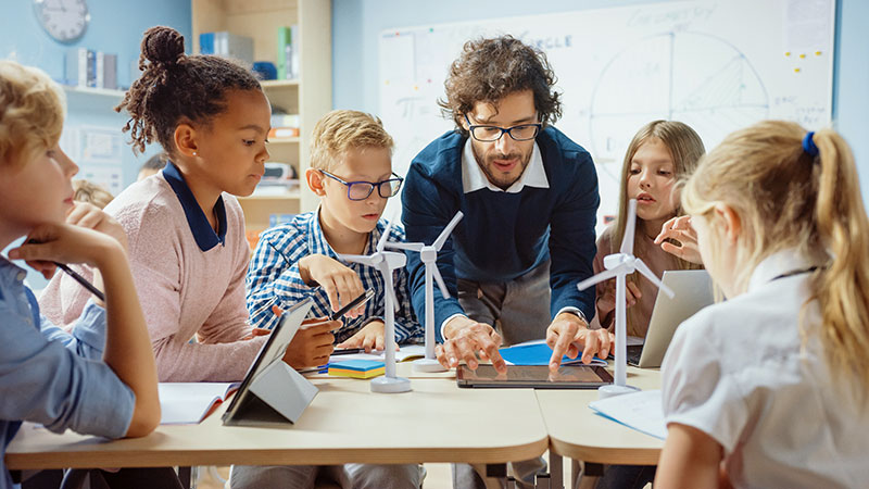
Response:
[[[628,367],[628,385],[660,389],[660,372]],[[602,464],[656,465],[664,441],[595,414],[596,390],[538,390],[550,450],[574,460]]]

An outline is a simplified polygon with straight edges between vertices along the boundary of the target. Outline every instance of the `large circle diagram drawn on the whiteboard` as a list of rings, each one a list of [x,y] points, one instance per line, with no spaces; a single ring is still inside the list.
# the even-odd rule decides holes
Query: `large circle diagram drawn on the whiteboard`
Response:
[[[768,116],[769,93],[745,54],[709,35],[668,33],[640,40],[605,66],[592,95],[587,145],[620,166],[633,136],[626,127],[681,121],[709,143]]]

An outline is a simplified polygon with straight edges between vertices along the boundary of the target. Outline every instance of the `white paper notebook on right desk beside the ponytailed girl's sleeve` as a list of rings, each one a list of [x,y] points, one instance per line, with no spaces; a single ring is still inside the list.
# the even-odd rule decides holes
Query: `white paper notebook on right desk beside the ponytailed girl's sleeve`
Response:
[[[660,390],[641,390],[589,403],[589,408],[601,416],[635,429],[640,432],[667,438],[664,424]]]

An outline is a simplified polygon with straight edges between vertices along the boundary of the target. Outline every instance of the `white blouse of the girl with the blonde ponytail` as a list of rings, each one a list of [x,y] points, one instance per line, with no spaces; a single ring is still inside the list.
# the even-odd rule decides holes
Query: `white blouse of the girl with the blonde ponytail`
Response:
[[[734,487],[869,487],[869,410],[828,368],[817,302],[801,348],[809,275],[781,277],[809,266],[794,251],[769,256],[747,292],[685,321],[664,359],[666,423],[718,441]]]

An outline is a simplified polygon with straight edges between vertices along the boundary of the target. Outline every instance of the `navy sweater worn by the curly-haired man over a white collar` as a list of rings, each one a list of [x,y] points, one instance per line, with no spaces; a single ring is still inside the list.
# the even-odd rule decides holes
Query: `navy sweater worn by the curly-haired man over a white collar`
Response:
[[[583,292],[577,284],[593,274],[594,223],[600,204],[597,174],[591,155],[554,127],[537,137],[550,188],[525,187],[518,193],[483,188],[465,193],[462,151],[466,137],[450,131],[414,158],[402,191],[402,221],[408,242],[431,243],[456,211],[465,217],[438,253],[438,268],[451,298],[434,292],[434,324],[458,305],[456,277],[502,283],[520,277],[552,259],[550,310],[554,316],[566,306],[578,308],[591,319],[594,287]],[[419,254],[407,252],[414,310],[425,317],[425,266]],[[540,337],[545,327],[541,318]]]

